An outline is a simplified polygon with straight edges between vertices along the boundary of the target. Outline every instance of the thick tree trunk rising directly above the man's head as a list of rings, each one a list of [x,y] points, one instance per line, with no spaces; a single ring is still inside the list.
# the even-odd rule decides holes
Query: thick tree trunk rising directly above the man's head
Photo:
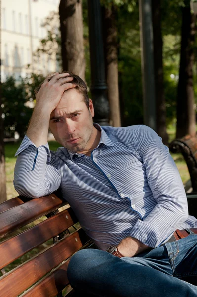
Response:
[[[63,70],[85,80],[82,0],[60,0],[59,16]]]

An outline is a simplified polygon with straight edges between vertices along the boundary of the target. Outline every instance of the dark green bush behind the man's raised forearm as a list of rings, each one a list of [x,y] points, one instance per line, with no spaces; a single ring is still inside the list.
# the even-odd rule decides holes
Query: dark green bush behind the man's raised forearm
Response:
[[[14,137],[16,131],[20,137],[24,136],[32,114],[32,109],[26,104],[35,100],[34,89],[42,81],[42,75],[32,74],[17,84],[11,76],[2,83],[1,107],[5,137]]]

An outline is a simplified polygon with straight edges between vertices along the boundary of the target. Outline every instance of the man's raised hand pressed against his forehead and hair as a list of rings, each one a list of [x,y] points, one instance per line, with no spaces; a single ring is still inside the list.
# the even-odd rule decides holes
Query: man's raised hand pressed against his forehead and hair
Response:
[[[36,94],[37,106],[51,113],[57,107],[64,91],[75,88],[72,80],[69,73],[56,72],[52,78],[47,76]]]

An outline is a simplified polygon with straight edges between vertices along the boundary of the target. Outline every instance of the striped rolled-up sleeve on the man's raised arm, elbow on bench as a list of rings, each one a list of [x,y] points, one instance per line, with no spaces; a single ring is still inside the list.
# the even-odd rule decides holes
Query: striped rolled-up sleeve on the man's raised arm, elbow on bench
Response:
[[[61,184],[55,156],[48,144],[39,146],[25,136],[15,156],[14,188],[22,196],[39,198],[56,191]]]

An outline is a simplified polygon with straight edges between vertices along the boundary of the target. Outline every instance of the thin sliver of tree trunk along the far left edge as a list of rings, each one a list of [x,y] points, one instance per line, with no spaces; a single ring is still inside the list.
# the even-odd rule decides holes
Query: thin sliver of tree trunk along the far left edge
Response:
[[[0,203],[6,201],[7,199],[1,97],[2,96],[1,96],[1,77],[0,77]]]

